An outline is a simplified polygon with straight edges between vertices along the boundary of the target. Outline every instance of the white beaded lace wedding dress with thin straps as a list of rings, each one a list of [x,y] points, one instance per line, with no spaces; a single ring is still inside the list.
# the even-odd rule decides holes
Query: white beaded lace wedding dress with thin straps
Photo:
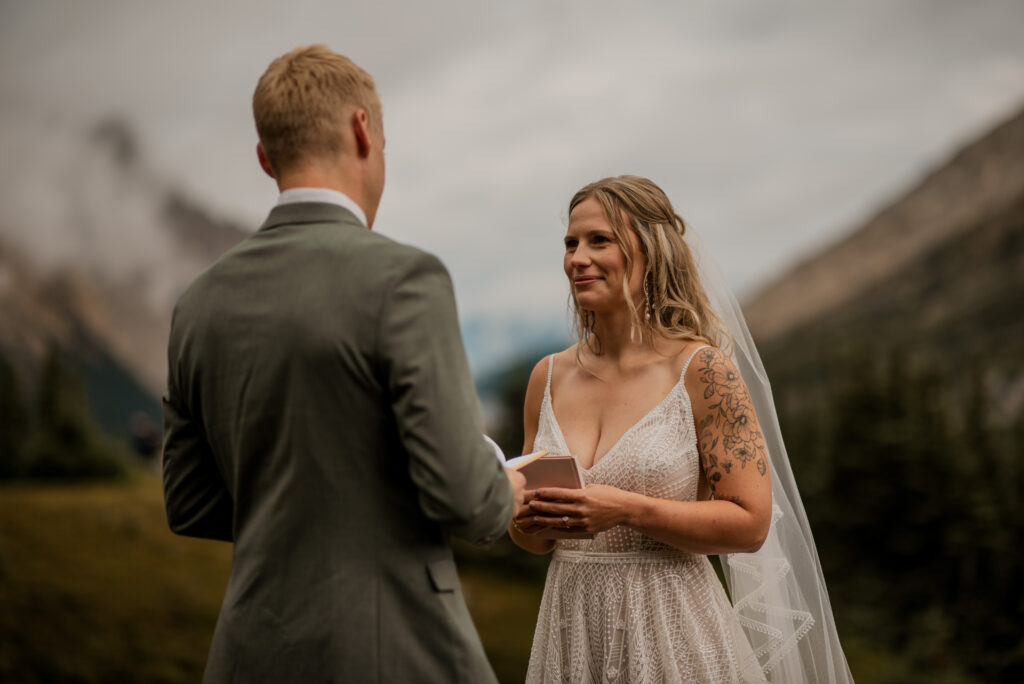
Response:
[[[568,454],[551,408],[551,368],[549,359],[534,450]],[[684,368],[668,396],[583,471],[585,484],[696,499],[700,463],[685,374]],[[557,542],[526,681],[703,684],[765,677],[708,557],[618,526],[593,540]]]

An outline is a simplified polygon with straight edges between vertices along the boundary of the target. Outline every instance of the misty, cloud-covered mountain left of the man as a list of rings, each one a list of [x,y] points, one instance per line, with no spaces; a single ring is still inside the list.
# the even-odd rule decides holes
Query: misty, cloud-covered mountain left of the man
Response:
[[[59,347],[108,430],[138,411],[158,418],[174,301],[245,232],[156,173],[120,120],[4,130],[5,147],[38,148],[0,189],[0,352],[31,388]]]

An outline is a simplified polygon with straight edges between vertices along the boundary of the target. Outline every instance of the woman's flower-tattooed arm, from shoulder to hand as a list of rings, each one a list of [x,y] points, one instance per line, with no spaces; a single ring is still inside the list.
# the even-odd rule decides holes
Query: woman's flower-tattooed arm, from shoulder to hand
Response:
[[[697,352],[685,383],[711,501],[654,499],[606,485],[544,488],[528,505],[535,524],[564,527],[567,515],[568,526],[577,530],[599,532],[625,524],[690,553],[761,548],[771,523],[771,479],[750,392],[728,357],[713,348]]]

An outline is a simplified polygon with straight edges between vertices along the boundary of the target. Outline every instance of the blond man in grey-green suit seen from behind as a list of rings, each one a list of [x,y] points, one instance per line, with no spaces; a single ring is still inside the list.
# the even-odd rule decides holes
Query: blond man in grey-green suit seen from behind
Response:
[[[373,79],[323,46],[253,111],[281,189],[181,296],[164,399],[171,529],[233,542],[205,682],[493,682],[450,536],[522,502],[481,435],[449,274],[372,232]]]

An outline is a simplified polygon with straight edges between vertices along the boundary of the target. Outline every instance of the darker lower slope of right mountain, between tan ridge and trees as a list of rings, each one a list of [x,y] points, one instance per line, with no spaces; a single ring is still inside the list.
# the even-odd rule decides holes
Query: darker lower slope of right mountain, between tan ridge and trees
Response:
[[[1024,404],[1024,191],[1015,203],[831,308],[759,342],[785,393],[836,359],[899,353],[952,377],[986,369],[1002,411]]]

